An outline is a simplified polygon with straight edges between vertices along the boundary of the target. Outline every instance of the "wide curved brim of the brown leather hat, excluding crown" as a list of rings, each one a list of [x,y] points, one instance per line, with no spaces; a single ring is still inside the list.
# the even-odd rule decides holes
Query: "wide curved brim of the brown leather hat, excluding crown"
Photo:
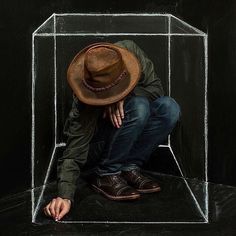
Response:
[[[119,81],[115,86],[104,91],[91,91],[84,83],[84,58],[86,51],[94,45],[113,47],[121,53],[128,76]],[[136,56],[125,48],[110,44],[92,44],[80,51],[72,60],[67,71],[67,80],[78,99],[89,105],[103,106],[115,103],[126,97],[137,84],[141,74],[141,67]]]

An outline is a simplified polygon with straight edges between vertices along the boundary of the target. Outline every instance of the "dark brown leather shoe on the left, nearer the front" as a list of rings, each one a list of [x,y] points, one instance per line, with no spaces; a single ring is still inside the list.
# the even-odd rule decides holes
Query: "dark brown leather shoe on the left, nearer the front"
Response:
[[[96,191],[111,200],[134,200],[140,197],[140,193],[130,187],[120,175],[96,175],[89,182]]]

